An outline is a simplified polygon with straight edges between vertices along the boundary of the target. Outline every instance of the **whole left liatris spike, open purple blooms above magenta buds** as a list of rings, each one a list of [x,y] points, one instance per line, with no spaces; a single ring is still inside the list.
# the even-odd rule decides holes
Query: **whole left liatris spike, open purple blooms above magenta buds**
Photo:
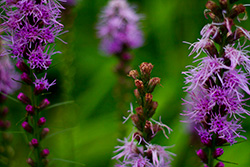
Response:
[[[26,105],[27,114],[22,126],[34,149],[27,163],[43,167],[47,165],[49,150],[42,147],[41,140],[49,129],[43,127],[46,119],[41,117],[41,111],[50,102],[39,98],[45,90],[55,85],[55,81],[49,83],[44,71],[52,64],[52,55],[59,53],[50,44],[59,39],[57,36],[63,29],[58,21],[63,7],[56,0],[3,0],[1,8],[4,21],[1,26],[6,33],[2,36],[6,41],[6,50],[2,55],[11,54],[12,58],[18,60],[16,66],[23,72],[21,79],[33,90],[31,95],[19,93],[17,96]],[[44,77],[39,76],[42,72],[45,73]]]

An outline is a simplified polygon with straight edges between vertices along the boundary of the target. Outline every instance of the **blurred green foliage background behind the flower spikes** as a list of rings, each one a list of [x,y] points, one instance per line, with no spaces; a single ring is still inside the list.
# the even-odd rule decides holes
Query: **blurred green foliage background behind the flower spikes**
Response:
[[[161,87],[154,91],[154,99],[159,107],[155,119],[161,115],[162,121],[173,132],[169,139],[159,133],[154,143],[165,146],[175,145],[169,151],[177,154],[173,167],[202,166],[195,154],[199,142],[191,135],[189,124],[180,122],[183,110],[181,98],[183,92],[185,66],[192,63],[188,57],[189,45],[183,41],[195,42],[200,37],[202,27],[211,22],[204,18],[206,0],[129,0],[136,6],[138,13],[144,15],[141,22],[145,34],[143,47],[132,51],[134,59],[131,66],[138,68],[142,62],[155,65],[152,76],[162,79]],[[241,3],[249,1],[242,0]],[[61,38],[67,45],[57,41],[57,50],[62,54],[54,56],[55,68],[49,71],[49,80],[54,78],[57,85],[51,87],[48,98],[52,104],[62,101],[74,103],[43,111],[51,132],[43,145],[50,148],[51,167],[111,167],[115,161],[114,147],[118,137],[127,137],[132,132],[132,122],[121,125],[120,112],[129,109],[129,103],[135,104],[135,98],[124,101],[124,106],[117,105],[115,88],[118,76],[115,66],[118,60],[107,57],[99,50],[100,40],[96,36],[96,23],[107,0],[79,0],[75,5],[67,6],[62,21],[68,33]],[[250,12],[250,8],[247,8]],[[250,30],[250,20],[241,25]],[[133,80],[130,80],[131,83]],[[25,91],[25,87],[22,88]],[[131,89],[131,95],[133,90]],[[13,94],[13,97],[16,97]],[[122,102],[123,103],[123,102]],[[29,154],[28,145],[20,120],[25,115],[25,106],[7,100],[10,108],[10,131],[13,133],[13,167],[27,166],[25,159]],[[122,134],[120,128],[124,128]],[[250,138],[250,118],[243,120],[244,133]],[[241,140],[242,141],[242,140]],[[232,147],[224,147],[223,160],[237,162],[239,167],[250,166],[250,142],[244,141]],[[72,163],[74,161],[76,163]],[[79,163],[79,164],[78,164]],[[235,165],[226,164],[226,167]]]

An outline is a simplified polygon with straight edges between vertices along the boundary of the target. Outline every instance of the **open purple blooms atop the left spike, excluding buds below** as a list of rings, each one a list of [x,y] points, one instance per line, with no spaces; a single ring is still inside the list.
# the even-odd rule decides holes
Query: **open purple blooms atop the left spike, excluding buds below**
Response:
[[[13,58],[27,59],[31,69],[47,70],[51,64],[53,47],[63,25],[60,9],[63,7],[55,0],[3,0],[2,9],[5,15],[2,27],[6,35],[8,49],[3,54],[12,54]]]

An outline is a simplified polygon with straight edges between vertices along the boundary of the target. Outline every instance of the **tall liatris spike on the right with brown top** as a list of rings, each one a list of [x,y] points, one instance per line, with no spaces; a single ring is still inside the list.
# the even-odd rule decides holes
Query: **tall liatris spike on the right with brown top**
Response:
[[[247,30],[236,25],[236,18],[246,19],[239,17],[246,14],[246,9],[242,4],[233,5],[234,2],[219,0],[219,5],[207,2],[205,14],[213,22],[204,26],[201,39],[190,46],[190,55],[196,54],[197,58],[203,52],[207,57],[195,60],[200,62],[198,66],[188,66],[189,70],[183,72],[190,99],[184,100],[188,107],[182,115],[196,124],[195,129],[206,146],[197,155],[208,167],[214,167],[214,159],[224,153],[220,146],[232,145],[237,138],[246,139],[241,135],[244,132],[241,119],[250,115],[244,98],[244,92],[250,94],[250,60],[246,50],[249,46],[240,43],[240,39],[250,38]],[[215,166],[224,164],[218,162]]]

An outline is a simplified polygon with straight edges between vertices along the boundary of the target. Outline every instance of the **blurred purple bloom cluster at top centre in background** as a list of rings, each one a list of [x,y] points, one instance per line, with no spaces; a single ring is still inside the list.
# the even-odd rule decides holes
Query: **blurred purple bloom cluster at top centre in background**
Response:
[[[111,0],[104,9],[98,29],[102,39],[101,49],[107,54],[118,54],[143,44],[143,36],[138,28],[141,16],[137,15],[126,0]]]

